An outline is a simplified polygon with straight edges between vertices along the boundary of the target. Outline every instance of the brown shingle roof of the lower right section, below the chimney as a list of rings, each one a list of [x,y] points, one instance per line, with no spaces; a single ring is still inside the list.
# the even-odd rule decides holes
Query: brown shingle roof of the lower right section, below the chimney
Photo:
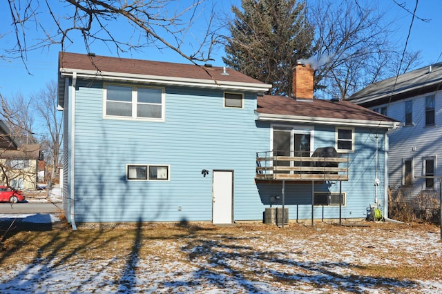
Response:
[[[348,101],[321,99],[296,100],[284,96],[264,95],[258,97],[257,111],[269,115],[296,117],[320,117],[329,119],[352,119],[362,121],[395,121]]]

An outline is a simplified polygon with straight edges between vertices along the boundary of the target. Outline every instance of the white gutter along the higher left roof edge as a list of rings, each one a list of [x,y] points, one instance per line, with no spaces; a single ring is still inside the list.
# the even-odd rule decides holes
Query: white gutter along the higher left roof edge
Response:
[[[61,77],[72,77],[74,72],[77,78],[103,79],[113,81],[133,81],[151,84],[163,84],[169,86],[189,86],[196,88],[218,88],[226,90],[247,90],[251,92],[267,92],[271,85],[242,83],[237,81],[218,81],[213,79],[189,79],[181,77],[162,77],[154,75],[137,75],[124,72],[99,72],[97,70],[75,70],[72,68],[60,68]]]

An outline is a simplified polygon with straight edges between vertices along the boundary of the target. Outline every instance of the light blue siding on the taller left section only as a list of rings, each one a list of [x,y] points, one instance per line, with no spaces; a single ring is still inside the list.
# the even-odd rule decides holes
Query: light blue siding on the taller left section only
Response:
[[[100,84],[76,95],[77,222],[211,221],[213,169],[235,170],[235,206],[252,208],[235,217],[260,218],[255,150],[267,137],[257,134],[254,96],[224,108],[222,91],[166,88],[165,121],[153,122],[103,118],[102,95]],[[169,165],[170,181],[127,181],[126,164]]]

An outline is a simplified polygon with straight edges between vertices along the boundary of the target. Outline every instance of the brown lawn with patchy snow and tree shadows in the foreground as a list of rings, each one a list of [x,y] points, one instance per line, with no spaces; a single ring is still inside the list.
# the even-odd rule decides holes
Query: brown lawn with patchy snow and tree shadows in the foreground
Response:
[[[439,227],[370,225],[17,232],[0,293],[442,293]]]

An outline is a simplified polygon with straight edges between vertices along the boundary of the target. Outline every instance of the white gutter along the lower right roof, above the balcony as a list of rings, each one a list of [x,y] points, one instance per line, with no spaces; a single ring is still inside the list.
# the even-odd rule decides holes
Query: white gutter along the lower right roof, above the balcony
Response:
[[[343,126],[367,126],[376,128],[397,128],[398,121],[369,121],[362,119],[333,119],[330,117],[302,117],[297,115],[274,115],[256,112],[258,121],[289,121],[298,124],[323,124],[323,125],[343,125]]]

